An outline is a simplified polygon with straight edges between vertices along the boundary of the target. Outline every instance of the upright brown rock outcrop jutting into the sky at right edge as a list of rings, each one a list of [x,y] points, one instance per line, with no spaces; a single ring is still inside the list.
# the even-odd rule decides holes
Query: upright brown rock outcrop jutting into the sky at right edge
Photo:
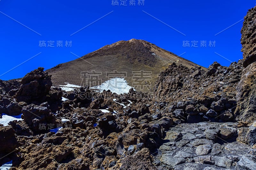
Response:
[[[244,67],[256,62],[256,7],[248,10],[244,17],[244,24],[241,30],[241,44],[244,56]]]

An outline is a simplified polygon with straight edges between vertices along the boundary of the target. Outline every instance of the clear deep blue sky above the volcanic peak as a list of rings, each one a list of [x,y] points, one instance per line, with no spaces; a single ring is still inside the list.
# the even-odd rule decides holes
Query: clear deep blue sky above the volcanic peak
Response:
[[[242,58],[240,20],[255,6],[255,0],[145,0],[144,5],[138,1],[134,6],[127,0],[127,6],[121,6],[121,0],[119,5],[112,5],[112,0],[0,0],[0,75],[34,56],[0,79],[23,77],[39,66],[49,69],[76,59],[75,55],[132,38],[177,55],[184,53],[183,58],[204,67],[214,61],[229,66],[229,61]],[[39,41],[46,41],[46,47],[40,47]],[[51,43],[47,41],[54,41],[54,47],[48,47]],[[57,41],[63,41],[62,48]],[[72,41],[71,47],[65,47],[66,41]],[[189,41],[190,47],[183,47],[183,41]],[[191,47],[192,41],[198,41],[198,47]],[[206,41],[206,47],[200,47],[201,41]],[[215,47],[209,47],[209,41],[215,41]]]

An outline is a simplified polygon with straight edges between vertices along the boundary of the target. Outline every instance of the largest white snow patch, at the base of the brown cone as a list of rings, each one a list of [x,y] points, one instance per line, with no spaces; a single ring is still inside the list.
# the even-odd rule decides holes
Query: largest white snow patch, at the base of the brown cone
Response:
[[[93,86],[92,89],[99,89],[101,92],[103,90],[110,90],[112,93],[123,94],[128,93],[132,86],[129,86],[124,78],[111,78],[105,81],[101,85]]]

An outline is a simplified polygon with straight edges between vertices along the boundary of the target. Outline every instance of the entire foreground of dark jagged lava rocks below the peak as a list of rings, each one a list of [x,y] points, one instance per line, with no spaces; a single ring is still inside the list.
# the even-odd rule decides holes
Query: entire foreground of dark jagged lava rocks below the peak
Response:
[[[149,93],[131,88],[117,95],[88,86],[64,92],[52,87],[44,68],[21,81],[0,80],[0,112],[22,113],[21,121],[0,125],[0,165],[256,169],[255,11],[242,28],[243,60],[229,67],[214,62],[207,70],[173,63]]]

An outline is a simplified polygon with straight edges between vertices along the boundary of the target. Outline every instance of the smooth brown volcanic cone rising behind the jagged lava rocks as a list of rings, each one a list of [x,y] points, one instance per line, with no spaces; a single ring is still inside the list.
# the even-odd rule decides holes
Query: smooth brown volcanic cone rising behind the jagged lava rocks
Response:
[[[173,62],[189,68],[198,66],[155,44],[132,39],[106,45],[47,71],[52,75],[54,86],[68,82],[92,87],[118,75],[136,90],[148,92],[154,87],[159,72]]]

